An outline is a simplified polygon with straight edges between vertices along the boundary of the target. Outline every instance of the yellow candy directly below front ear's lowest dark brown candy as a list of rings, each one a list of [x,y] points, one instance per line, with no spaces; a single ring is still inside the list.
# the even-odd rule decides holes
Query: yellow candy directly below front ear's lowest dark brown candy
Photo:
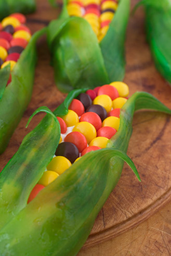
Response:
[[[47,166],[47,169],[52,170],[53,172],[56,172],[60,175],[71,165],[71,162],[66,157],[59,155],[52,158],[51,162]]]

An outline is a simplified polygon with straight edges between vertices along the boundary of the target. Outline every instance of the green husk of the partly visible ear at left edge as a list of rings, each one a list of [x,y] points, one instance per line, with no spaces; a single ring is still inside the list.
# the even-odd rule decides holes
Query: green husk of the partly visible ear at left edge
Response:
[[[4,152],[12,133],[27,108],[33,89],[34,71],[37,60],[36,42],[46,29],[37,31],[22,52],[7,84],[9,67],[0,70],[0,154]]]

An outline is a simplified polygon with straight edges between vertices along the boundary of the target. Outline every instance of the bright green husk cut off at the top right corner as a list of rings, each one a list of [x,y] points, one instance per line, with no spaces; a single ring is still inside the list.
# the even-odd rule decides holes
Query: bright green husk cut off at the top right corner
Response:
[[[155,66],[171,84],[171,2],[170,0],[143,0],[146,13],[147,40]]]

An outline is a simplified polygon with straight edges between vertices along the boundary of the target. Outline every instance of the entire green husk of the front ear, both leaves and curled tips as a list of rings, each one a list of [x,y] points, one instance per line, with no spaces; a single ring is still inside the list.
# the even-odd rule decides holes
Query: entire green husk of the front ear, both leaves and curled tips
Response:
[[[84,91],[80,89],[70,92],[64,103],[54,112],[55,116],[66,114],[72,99]],[[43,168],[46,168],[57,148],[60,138],[59,125],[55,125],[57,123],[51,118],[49,121],[51,120],[52,126],[49,124],[44,128],[46,119],[43,119],[43,123],[41,122],[25,137],[18,151],[20,153],[12,157],[0,175],[0,220],[5,215],[8,201],[12,202],[13,206],[19,205],[14,208],[10,204],[11,208],[8,208],[5,222],[1,223],[2,255],[24,255],[26,252],[28,255],[41,256],[77,254],[86,241],[97,214],[117,184],[124,161],[133,168],[140,180],[126,151],[132,132],[134,112],[147,108],[171,114],[171,111],[152,95],[145,92],[135,93],[121,109],[119,130],[109,141],[107,148],[84,155],[44,188],[28,205],[27,199],[31,189],[40,179]],[[37,141],[36,135],[39,134],[39,130],[42,131]],[[49,138],[52,144],[50,142],[48,146]],[[41,145],[44,145],[45,151]],[[35,147],[41,151],[38,148],[35,150]],[[24,155],[21,158],[22,148]],[[41,155],[43,162],[40,165],[37,159],[40,161]],[[14,165],[11,170],[11,166]],[[36,172],[35,176],[32,168]],[[16,188],[15,195],[8,193],[11,185],[12,190]]]

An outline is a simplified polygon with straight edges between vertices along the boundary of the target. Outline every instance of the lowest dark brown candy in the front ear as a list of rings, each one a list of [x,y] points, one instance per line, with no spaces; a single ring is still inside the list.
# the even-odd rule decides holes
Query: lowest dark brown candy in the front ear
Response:
[[[77,147],[71,142],[61,142],[55,152],[56,156],[61,155],[66,157],[71,163],[80,156]]]

